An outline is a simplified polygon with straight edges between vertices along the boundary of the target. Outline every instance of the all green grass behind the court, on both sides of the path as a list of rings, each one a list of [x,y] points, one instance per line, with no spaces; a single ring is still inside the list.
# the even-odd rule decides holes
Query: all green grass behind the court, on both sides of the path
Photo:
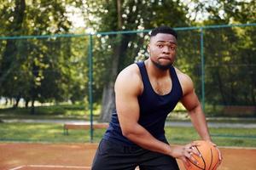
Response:
[[[96,116],[99,106],[94,106]],[[30,115],[30,109],[5,108],[0,109],[1,119],[78,119],[89,120],[89,111],[84,105],[50,105],[37,106],[35,115]],[[168,116],[169,121],[189,122],[189,117],[182,111],[173,112]],[[243,122],[256,123],[256,118],[214,117],[208,122]],[[102,139],[105,130],[94,131],[94,141]],[[210,128],[213,142],[221,146],[256,147],[256,128]],[[171,144],[186,144],[200,139],[193,127],[166,127],[166,138]],[[84,143],[90,142],[90,130],[70,130],[69,135],[63,134],[63,125],[56,123],[24,123],[0,122],[0,141],[17,142],[50,142],[50,143]]]

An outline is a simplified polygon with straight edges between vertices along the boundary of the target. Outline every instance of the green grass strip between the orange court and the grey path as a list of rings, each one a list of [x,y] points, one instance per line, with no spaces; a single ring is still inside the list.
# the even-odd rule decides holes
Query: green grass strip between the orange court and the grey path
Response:
[[[102,139],[105,130],[94,131],[94,141]],[[220,146],[256,147],[256,128],[210,128],[213,142]],[[15,142],[84,143],[90,142],[90,130],[70,130],[63,134],[63,125],[53,123],[0,123],[0,140]],[[199,139],[194,128],[166,127],[171,144],[186,144]]]

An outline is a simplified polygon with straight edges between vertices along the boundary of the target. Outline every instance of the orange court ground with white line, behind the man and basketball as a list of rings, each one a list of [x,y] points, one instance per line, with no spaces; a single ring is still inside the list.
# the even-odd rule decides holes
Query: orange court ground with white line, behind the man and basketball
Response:
[[[90,169],[97,144],[0,143],[1,170]],[[224,161],[218,170],[253,170],[256,149],[220,148]],[[183,165],[178,161],[181,170]]]

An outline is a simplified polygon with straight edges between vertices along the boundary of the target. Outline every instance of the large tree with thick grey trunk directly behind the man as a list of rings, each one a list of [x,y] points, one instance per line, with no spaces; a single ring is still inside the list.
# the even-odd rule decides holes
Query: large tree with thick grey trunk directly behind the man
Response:
[[[160,25],[188,26],[185,16],[186,8],[179,1],[114,0],[97,1],[97,3],[88,1],[87,7],[89,14],[95,17],[95,20],[89,20],[89,23],[96,31],[151,29]],[[102,69],[101,75],[108,75],[100,79],[104,83],[104,87],[99,89],[102,90],[101,120],[103,122],[109,121],[114,109],[114,80],[125,65],[131,64],[136,59],[137,54],[131,51],[139,52],[145,49],[145,43],[143,44],[145,35],[144,33],[140,37],[138,34],[114,34],[101,37],[101,40],[108,44],[107,49],[101,49],[106,50],[104,51],[106,53],[102,55],[104,59],[101,59],[105,62],[95,62],[94,68],[99,68],[96,65],[102,65],[100,68],[105,69]],[[135,40],[142,43],[133,42]],[[145,50],[144,53],[146,53]],[[128,56],[128,54],[133,55]],[[94,59],[97,61],[96,52],[94,52]]]

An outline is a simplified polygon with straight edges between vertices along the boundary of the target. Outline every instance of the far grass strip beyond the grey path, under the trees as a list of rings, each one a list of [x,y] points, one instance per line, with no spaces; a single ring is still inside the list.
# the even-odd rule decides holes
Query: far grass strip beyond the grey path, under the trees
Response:
[[[0,105],[1,106],[1,105]],[[94,119],[96,120],[101,111],[100,105],[94,105]],[[176,110],[167,117],[167,121],[181,121],[190,122],[186,111],[183,111],[182,105],[177,105]],[[35,107],[35,114],[30,114],[30,108],[18,107],[13,109],[11,107],[0,107],[1,119],[90,119],[90,111],[83,104],[59,104],[59,105],[42,105]],[[256,123],[256,117],[207,117],[208,122],[242,122],[242,123]]]

